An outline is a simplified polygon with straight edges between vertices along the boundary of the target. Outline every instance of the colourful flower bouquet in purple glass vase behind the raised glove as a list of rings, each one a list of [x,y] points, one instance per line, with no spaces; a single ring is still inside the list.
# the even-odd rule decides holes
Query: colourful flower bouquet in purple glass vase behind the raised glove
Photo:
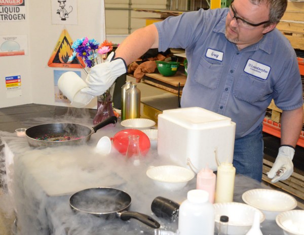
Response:
[[[73,61],[78,59],[77,56],[81,57],[86,66],[91,68],[98,63],[103,63],[110,51],[113,50],[113,45],[111,42],[105,40],[102,44],[99,44],[94,39],[88,39],[88,37],[83,37],[75,41],[71,48],[73,49],[73,54],[69,57],[68,61]],[[81,64],[81,63],[80,63]],[[88,71],[84,67],[87,74]],[[93,119],[93,124],[96,125],[110,116],[114,116],[112,96],[115,88],[115,83],[105,91],[100,96],[97,96],[97,113]]]

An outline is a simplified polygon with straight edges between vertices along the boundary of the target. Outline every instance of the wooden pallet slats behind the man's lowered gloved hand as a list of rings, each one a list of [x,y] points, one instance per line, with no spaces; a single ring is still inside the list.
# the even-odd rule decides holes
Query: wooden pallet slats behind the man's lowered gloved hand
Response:
[[[263,160],[263,176],[262,180],[268,182],[284,191],[295,195],[300,200],[297,200],[298,207],[304,209],[304,203],[300,202],[304,200],[304,176],[293,172],[292,175],[283,181],[278,181],[277,183],[271,183],[271,179],[267,177],[267,172],[272,168],[273,163],[268,160]]]

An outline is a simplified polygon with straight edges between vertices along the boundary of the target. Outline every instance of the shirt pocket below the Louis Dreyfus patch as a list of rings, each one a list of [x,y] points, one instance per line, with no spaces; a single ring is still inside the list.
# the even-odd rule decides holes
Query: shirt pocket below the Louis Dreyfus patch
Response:
[[[267,81],[256,79],[249,74],[243,74],[236,82],[233,91],[238,100],[253,104],[257,101],[267,100],[272,91],[267,89]]]

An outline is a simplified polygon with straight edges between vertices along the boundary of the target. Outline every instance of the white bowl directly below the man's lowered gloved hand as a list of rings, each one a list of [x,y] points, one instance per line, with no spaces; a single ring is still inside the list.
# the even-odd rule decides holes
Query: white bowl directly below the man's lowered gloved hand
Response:
[[[242,199],[248,205],[261,210],[268,220],[275,220],[283,211],[297,206],[296,200],[289,194],[273,189],[252,189],[243,193]]]

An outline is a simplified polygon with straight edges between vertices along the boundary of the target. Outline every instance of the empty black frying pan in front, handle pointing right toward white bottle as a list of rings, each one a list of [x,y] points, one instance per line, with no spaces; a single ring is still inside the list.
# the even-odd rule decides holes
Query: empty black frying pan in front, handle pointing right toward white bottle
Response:
[[[111,187],[95,187],[75,192],[69,198],[70,207],[75,211],[92,214],[105,219],[137,219],[140,222],[159,228],[160,224],[152,217],[139,212],[128,211],[131,197],[125,191]]]

